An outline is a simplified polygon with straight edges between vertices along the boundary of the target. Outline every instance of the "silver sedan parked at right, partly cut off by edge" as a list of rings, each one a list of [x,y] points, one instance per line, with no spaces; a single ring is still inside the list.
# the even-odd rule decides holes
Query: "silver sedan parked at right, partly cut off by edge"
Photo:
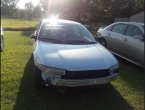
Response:
[[[144,24],[116,22],[97,32],[99,42],[114,54],[144,66]]]

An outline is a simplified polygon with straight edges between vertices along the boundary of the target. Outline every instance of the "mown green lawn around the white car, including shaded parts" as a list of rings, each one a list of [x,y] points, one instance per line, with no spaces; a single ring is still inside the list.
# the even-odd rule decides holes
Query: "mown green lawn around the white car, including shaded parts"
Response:
[[[1,53],[1,110],[143,110],[144,74],[120,58],[120,74],[107,86],[66,94],[34,87],[31,32],[4,32]]]

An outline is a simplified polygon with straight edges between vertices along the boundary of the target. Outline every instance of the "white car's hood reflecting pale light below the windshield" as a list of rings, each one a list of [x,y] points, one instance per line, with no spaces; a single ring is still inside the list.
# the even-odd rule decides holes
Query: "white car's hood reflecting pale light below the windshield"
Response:
[[[43,64],[70,71],[108,69],[115,57],[99,43],[89,45],[51,44],[39,41]]]

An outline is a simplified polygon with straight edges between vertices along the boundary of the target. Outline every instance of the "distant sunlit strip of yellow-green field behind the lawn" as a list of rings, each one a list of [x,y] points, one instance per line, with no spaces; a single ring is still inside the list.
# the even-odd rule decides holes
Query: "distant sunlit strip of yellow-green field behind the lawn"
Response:
[[[22,20],[22,19],[1,19],[3,28],[29,28],[35,27],[38,21]]]

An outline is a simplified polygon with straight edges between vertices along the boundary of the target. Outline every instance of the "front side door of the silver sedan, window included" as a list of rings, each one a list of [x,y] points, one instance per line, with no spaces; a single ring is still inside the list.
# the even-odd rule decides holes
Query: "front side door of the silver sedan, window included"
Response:
[[[135,26],[129,25],[125,33],[125,55],[137,63],[144,64],[144,33]]]

